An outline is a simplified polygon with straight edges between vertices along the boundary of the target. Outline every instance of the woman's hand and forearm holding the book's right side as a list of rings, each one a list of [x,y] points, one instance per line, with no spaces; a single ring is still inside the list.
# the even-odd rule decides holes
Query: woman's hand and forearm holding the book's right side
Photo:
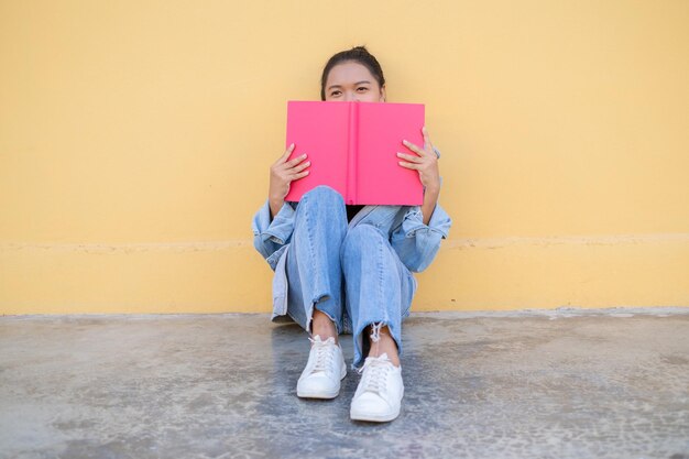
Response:
[[[416,154],[397,153],[397,157],[404,160],[400,162],[402,167],[418,172],[418,178],[424,185],[422,214],[424,216],[424,225],[428,225],[440,194],[440,171],[438,170],[438,156],[433,149],[426,127],[422,129],[422,133],[424,134],[424,147],[420,149],[406,140],[402,141],[404,146]]]

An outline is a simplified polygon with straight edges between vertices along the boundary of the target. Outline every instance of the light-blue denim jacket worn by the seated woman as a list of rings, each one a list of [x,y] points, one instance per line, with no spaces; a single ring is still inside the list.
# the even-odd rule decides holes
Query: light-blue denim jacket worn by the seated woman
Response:
[[[294,229],[295,203],[285,203],[271,220],[267,200],[254,215],[252,221],[253,245],[275,271],[273,277],[273,321],[282,320],[287,314],[286,254]],[[422,272],[438,253],[440,240],[447,238],[451,219],[439,204],[424,225],[419,206],[364,206],[349,228],[373,225],[383,233],[402,263],[412,272]]]

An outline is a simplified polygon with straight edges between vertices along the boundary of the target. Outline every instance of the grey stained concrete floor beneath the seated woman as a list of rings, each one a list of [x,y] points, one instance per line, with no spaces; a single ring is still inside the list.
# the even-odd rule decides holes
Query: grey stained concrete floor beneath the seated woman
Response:
[[[0,318],[1,458],[689,459],[689,308],[413,314],[405,397],[303,401],[266,315]],[[342,338],[351,363],[351,336]]]

